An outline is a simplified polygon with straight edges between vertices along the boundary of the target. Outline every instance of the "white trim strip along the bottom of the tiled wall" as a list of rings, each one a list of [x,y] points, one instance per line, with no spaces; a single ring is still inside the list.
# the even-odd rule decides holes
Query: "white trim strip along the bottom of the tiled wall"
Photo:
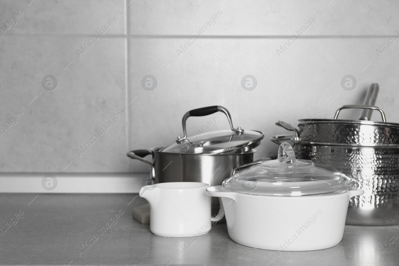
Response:
[[[42,179],[48,174],[0,173],[0,193],[138,193],[146,176],[146,173],[51,173],[58,184],[47,191]]]

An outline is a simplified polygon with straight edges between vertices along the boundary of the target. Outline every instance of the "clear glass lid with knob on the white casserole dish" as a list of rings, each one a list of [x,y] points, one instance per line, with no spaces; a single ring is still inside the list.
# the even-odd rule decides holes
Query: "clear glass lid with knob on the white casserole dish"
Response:
[[[296,159],[287,142],[280,145],[277,160],[242,169],[222,184],[225,191],[285,197],[343,193],[355,187],[353,179],[332,167]]]

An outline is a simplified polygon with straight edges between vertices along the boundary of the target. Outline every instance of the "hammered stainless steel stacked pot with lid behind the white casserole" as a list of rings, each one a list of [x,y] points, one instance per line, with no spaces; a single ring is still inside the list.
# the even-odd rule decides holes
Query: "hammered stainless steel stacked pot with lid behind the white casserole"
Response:
[[[340,110],[366,108],[378,110],[382,122],[340,120]],[[346,105],[339,108],[334,119],[301,119],[293,128],[282,121],[276,124],[292,130],[295,135],[273,136],[280,144],[295,144],[299,158],[330,164],[353,177],[365,193],[350,200],[346,224],[399,224],[399,124],[385,121],[384,112],[373,106]]]

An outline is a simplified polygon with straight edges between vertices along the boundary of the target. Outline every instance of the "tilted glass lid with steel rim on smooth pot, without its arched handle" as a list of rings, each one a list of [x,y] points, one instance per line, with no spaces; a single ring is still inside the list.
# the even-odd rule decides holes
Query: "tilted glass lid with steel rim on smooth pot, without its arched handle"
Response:
[[[178,140],[166,146],[160,152],[179,154],[219,154],[242,149],[241,152],[252,150],[259,146],[264,135],[256,130],[217,130],[198,132],[194,136]]]

